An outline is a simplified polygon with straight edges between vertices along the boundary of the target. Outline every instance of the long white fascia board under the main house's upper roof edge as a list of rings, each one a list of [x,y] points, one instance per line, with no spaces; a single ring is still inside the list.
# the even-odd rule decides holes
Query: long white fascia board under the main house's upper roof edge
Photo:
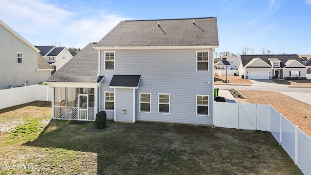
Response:
[[[219,46],[130,46],[130,47],[106,47],[98,46],[94,49],[100,50],[172,50],[172,49],[215,49]]]

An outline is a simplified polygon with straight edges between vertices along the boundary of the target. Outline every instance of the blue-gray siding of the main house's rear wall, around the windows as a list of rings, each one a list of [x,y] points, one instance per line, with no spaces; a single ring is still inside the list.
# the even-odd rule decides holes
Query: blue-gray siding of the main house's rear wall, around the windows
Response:
[[[105,76],[101,97],[104,91],[114,91],[108,87],[114,74],[141,75],[136,93],[138,121],[212,124],[213,89],[207,85],[208,81],[213,82],[212,50],[208,50],[209,71],[196,71],[196,51],[116,50],[115,70],[104,70],[104,51],[101,51],[101,74]],[[139,112],[139,93],[151,93],[150,113]],[[170,114],[158,113],[159,93],[170,94]],[[196,95],[209,95],[209,116],[196,115]],[[107,118],[113,118],[111,115],[107,113]]]

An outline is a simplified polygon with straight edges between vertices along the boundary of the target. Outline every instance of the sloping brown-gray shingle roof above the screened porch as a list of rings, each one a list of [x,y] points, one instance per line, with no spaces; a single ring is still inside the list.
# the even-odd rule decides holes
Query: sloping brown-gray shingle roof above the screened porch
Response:
[[[96,43],[89,43],[46,82],[97,83],[101,77],[97,75],[98,51],[93,48],[95,45]]]

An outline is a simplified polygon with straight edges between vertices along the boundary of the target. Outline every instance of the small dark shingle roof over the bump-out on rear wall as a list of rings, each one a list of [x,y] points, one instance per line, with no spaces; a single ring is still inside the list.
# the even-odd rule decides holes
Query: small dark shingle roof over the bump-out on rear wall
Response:
[[[109,86],[138,87],[140,75],[113,75]]]

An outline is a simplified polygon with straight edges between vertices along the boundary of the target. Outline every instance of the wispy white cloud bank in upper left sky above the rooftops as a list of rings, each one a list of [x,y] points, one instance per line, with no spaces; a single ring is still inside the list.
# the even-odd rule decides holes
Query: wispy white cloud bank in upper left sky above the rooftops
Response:
[[[43,0],[1,0],[0,5],[1,20],[34,45],[82,49],[101,40],[121,20],[130,19],[97,9],[76,11]]]

